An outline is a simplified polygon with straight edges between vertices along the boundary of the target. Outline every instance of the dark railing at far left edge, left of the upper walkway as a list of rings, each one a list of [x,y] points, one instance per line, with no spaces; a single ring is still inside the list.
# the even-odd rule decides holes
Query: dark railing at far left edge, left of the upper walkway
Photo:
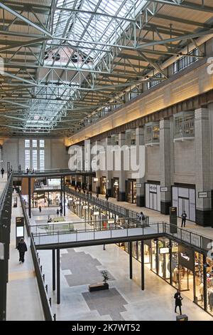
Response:
[[[0,321],[6,321],[6,284],[9,272],[12,194],[13,173],[9,175],[0,198]]]

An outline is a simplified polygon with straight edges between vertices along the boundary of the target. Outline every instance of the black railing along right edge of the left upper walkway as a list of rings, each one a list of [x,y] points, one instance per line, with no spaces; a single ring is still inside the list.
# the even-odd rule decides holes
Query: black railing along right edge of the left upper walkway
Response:
[[[20,195],[20,200],[21,200],[21,207],[22,207],[22,211],[23,211],[23,217],[24,217],[24,221],[25,221],[25,225],[26,225],[26,230],[28,232],[28,237],[31,238],[31,254],[32,254],[32,258],[33,258],[33,264],[34,264],[34,268],[35,268],[35,275],[37,278],[37,282],[38,282],[38,289],[40,292],[40,299],[41,299],[41,303],[43,306],[43,313],[45,316],[45,321],[53,321],[54,320],[54,316],[52,314],[52,310],[51,310],[51,306],[50,306],[50,300],[48,298],[48,292],[47,289],[45,287],[45,281],[44,281],[44,277],[42,274],[42,267],[40,267],[40,260],[38,258],[38,254],[36,252],[35,249],[35,244],[33,241],[33,237],[31,234],[31,230],[30,230],[30,223],[28,220],[28,215],[26,214],[26,208],[23,205],[23,199]]]

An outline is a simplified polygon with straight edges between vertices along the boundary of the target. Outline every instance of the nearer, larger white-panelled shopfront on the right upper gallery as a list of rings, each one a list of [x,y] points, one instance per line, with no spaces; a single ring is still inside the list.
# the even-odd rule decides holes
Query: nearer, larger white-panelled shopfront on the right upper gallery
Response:
[[[187,220],[195,222],[195,188],[173,186],[173,207],[177,207],[178,217],[185,210]]]

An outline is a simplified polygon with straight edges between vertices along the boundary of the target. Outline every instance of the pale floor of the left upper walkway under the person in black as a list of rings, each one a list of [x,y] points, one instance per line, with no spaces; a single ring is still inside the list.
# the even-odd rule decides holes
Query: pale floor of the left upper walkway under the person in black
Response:
[[[43,321],[43,308],[40,302],[37,279],[35,278],[30,242],[25,232],[28,246],[25,262],[19,264],[16,249],[16,217],[22,216],[19,197],[18,207],[12,210],[11,243],[9,259],[9,282],[7,284],[6,319],[9,321]]]

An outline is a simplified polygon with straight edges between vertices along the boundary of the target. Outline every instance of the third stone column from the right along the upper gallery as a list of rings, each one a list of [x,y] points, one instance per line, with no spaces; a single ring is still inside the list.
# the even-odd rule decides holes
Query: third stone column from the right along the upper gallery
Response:
[[[141,185],[136,188],[136,205],[138,207],[145,206],[145,143],[144,128],[136,128],[136,157],[137,165],[140,167],[136,183]],[[144,170],[144,175],[143,175]]]

